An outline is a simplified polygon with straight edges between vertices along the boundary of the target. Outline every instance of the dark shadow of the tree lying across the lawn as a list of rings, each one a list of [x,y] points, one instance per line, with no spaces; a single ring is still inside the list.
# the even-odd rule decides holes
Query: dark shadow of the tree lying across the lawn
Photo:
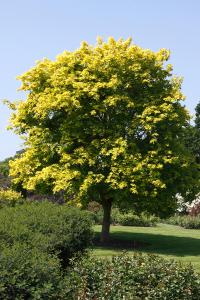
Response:
[[[139,246],[136,249],[126,249],[128,251],[141,250],[146,253],[157,253],[176,256],[197,256],[200,255],[200,239],[190,237],[176,237],[170,235],[151,234],[151,233],[131,233],[115,231],[111,233],[111,239],[121,239],[135,241]],[[99,234],[96,234],[96,238]],[[93,249],[122,250],[122,247],[104,247],[98,245]]]

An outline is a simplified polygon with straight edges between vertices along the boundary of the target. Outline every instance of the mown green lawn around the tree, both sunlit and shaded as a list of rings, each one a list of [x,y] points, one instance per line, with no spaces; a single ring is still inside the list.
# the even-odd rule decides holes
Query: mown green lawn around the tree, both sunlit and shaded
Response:
[[[101,226],[95,226],[99,233]],[[156,253],[165,258],[173,258],[184,263],[192,263],[200,272],[200,230],[183,229],[179,226],[159,224],[156,227],[111,226],[113,238],[131,239],[148,243],[137,249],[144,253]],[[117,249],[95,247],[93,255],[106,257],[120,253]],[[131,254],[132,251],[128,251]]]

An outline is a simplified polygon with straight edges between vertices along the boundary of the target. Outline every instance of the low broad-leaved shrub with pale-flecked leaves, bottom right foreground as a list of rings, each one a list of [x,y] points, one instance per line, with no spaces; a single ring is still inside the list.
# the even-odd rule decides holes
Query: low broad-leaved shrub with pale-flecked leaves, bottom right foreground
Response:
[[[200,280],[191,266],[154,255],[90,258],[74,266],[73,299],[198,300]]]

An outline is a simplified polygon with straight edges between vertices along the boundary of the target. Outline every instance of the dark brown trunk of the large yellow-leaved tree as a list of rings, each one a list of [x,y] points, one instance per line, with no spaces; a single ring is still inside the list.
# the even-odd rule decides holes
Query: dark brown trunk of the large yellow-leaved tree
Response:
[[[110,215],[111,215],[112,200],[104,199],[102,202],[102,206],[103,206],[103,224],[101,230],[101,242],[105,243],[109,240],[109,235],[110,235]]]

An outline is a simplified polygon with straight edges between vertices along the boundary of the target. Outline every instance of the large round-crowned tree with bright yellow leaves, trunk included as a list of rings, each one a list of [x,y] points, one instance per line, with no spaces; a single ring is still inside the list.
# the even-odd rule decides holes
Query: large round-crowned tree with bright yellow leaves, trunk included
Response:
[[[27,99],[10,103],[11,128],[26,148],[10,163],[15,183],[63,191],[82,206],[98,201],[102,241],[114,202],[172,210],[174,195],[192,182],[193,161],[182,142],[189,114],[181,79],[168,59],[166,49],[98,39],[20,76]]]

